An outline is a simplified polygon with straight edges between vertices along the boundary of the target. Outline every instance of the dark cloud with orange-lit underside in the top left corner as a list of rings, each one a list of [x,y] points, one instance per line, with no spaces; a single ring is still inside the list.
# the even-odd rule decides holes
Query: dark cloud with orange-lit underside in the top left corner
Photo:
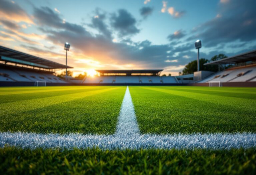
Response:
[[[0,0],[0,18],[14,22],[33,24],[31,17],[16,3]]]

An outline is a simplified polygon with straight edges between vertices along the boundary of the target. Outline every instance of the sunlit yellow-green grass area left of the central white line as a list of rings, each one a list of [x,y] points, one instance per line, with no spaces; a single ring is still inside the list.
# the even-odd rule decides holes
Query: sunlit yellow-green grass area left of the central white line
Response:
[[[126,87],[0,88],[0,131],[114,133]]]

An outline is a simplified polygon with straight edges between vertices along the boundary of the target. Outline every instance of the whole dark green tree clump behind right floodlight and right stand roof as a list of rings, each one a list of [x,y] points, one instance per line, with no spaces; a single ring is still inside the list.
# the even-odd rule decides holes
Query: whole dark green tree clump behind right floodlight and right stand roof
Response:
[[[210,59],[210,61],[216,61],[216,60],[220,60],[220,59],[223,59],[223,58],[227,58],[227,56],[224,55],[224,54],[219,54],[219,55],[213,56]],[[218,70],[219,70],[218,65],[207,65],[207,66],[204,66],[205,63],[208,63],[210,61],[205,59],[205,58],[201,58],[199,60],[200,70],[218,72]],[[185,66],[185,68],[182,71],[182,74],[183,75],[193,74],[196,71],[197,71],[197,60],[194,60],[194,61],[189,62]]]

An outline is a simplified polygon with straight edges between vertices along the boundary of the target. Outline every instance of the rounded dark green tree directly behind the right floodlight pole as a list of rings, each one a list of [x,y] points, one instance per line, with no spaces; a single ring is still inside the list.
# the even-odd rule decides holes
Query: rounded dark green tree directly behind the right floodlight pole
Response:
[[[201,58],[199,60],[199,67],[200,67],[200,70],[205,70],[205,66],[204,64],[205,63],[208,63],[209,61],[205,58]],[[187,74],[193,74],[194,72],[197,71],[197,60],[194,60],[194,61],[191,61],[189,62],[185,68],[183,69],[182,71],[182,74],[183,75],[187,75]]]

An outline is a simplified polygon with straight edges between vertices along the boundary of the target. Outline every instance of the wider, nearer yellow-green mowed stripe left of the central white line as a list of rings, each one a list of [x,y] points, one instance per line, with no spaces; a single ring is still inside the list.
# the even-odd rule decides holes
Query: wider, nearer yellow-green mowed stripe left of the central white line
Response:
[[[99,90],[84,90],[83,92],[77,92],[74,94],[62,94],[59,96],[54,97],[44,97],[44,98],[37,98],[37,99],[31,99],[31,100],[23,100],[18,102],[10,102],[10,103],[4,103],[1,104],[0,108],[0,116],[1,115],[8,115],[12,113],[17,112],[23,112],[23,111],[29,111],[31,109],[38,109],[43,108],[47,106],[51,106],[58,103],[63,103],[67,101],[76,100],[79,98],[83,98],[86,96],[95,95],[98,93],[104,93],[110,90],[118,89],[119,87],[103,87]]]

